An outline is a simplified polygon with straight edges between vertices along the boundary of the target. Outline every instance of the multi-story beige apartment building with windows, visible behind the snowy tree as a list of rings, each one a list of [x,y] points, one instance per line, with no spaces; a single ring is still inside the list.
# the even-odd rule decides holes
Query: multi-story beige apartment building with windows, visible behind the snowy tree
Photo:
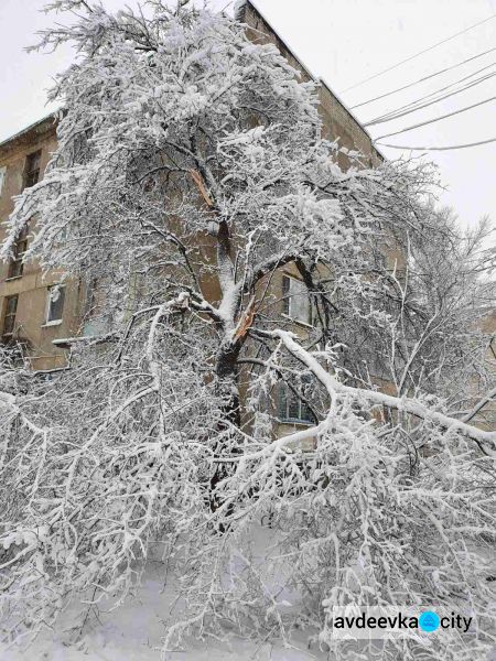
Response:
[[[247,1],[239,9],[238,19],[247,25],[249,39],[274,43],[288,62],[300,72],[303,80],[314,79],[251,2]],[[320,80],[320,101],[325,137],[338,139],[342,147],[358,150],[368,165],[379,163],[381,155],[374,148],[366,130],[323,80]],[[43,176],[51,152],[55,149],[54,116],[45,117],[0,143],[0,241],[4,237],[4,221],[12,212],[14,196]],[[339,158],[342,167],[346,167],[346,155],[341,154]],[[34,224],[35,218],[32,220],[32,228]],[[56,272],[46,274],[36,262],[23,264],[22,256],[29,241],[30,229],[19,237],[13,259],[0,264],[0,337],[4,343],[15,343],[33,369],[57,369],[67,361],[67,344],[62,340],[84,332],[84,290],[75,280],[57,286],[60,274]],[[283,300],[291,302],[288,305],[298,305],[296,302],[302,297],[295,295],[295,292],[302,285],[292,277],[290,268],[280,274],[280,286],[287,288],[289,293]],[[285,312],[298,319],[308,314],[304,305],[300,303],[302,310]],[[291,405],[294,408],[294,403],[288,402],[287,407]],[[303,418],[301,411],[299,418]]]

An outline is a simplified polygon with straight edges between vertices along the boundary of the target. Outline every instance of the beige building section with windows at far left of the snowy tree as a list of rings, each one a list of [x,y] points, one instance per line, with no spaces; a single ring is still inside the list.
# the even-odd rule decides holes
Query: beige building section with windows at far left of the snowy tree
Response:
[[[14,197],[43,176],[50,154],[56,149],[53,116],[0,143],[0,239],[12,212]],[[17,240],[13,259],[0,263],[0,336],[14,344],[35,370],[64,367],[66,351],[53,344],[79,327],[82,292],[77,281],[57,286],[56,272],[43,273],[36,262],[23,263],[35,218]]]

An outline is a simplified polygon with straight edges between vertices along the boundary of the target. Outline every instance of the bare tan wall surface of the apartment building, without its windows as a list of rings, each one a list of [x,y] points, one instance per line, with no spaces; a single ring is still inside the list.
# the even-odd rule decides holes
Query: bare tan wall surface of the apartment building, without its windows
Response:
[[[312,79],[311,73],[250,2],[242,7],[241,13],[242,15],[239,18],[248,24],[247,33],[251,40],[274,43],[288,62],[301,73],[302,79]],[[381,156],[374,149],[366,131],[325,83],[321,83],[320,99],[324,136],[331,140],[338,139],[341,145],[363,152],[366,155],[366,164],[379,163]],[[39,149],[42,150],[41,173],[43,173],[51,152],[56,149],[55,123],[52,117],[37,122],[0,144],[0,173],[2,169],[6,169],[3,189],[0,195],[0,224],[7,220],[12,212],[12,196],[22,191],[26,155]],[[343,167],[348,165],[344,154],[339,155],[339,160]],[[4,226],[0,225],[0,241],[4,237]],[[201,252],[205,252],[204,257],[206,258],[212,252],[211,242],[209,238],[206,237],[203,241],[205,245],[202,243],[200,249]],[[8,269],[7,263],[0,263],[0,323],[3,323],[6,297],[18,294],[15,337],[28,343],[31,366],[41,370],[64,366],[67,351],[54,346],[52,343],[56,339],[73,337],[79,333],[84,305],[79,283],[76,281],[67,283],[62,323],[47,326],[44,323],[47,288],[57,282],[58,274],[50,273],[44,277],[39,264],[29,263],[24,266],[22,277],[8,279]],[[276,279],[276,285],[279,280],[280,278]],[[212,299],[218,299],[217,283],[212,281],[205,284],[208,294],[212,294]],[[278,292],[273,292],[274,297],[277,297],[277,294]]]

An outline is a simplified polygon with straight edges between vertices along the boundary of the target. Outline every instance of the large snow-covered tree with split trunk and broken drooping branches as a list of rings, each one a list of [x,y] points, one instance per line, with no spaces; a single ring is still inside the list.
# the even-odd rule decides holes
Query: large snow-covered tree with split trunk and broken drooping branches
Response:
[[[163,0],[52,8],[77,20],[42,45],[77,57],[52,96],[58,148],[17,201],[3,257],[34,217],[25,259],[80,279],[106,326],[74,343],[71,369],[0,393],[9,635],[74,597],[125,598],[160,541],[184,597],[165,649],[304,621],[334,646],[333,605],[468,603],[470,650],[440,636],[430,653],[482,658],[496,449],[472,424],[494,389],[484,230],[460,237],[435,210],[427,166],[352,153],[342,172],[315,85],[235,20]],[[281,314],[295,295],[283,268],[312,326]],[[278,437],[281,387],[313,423]],[[260,522],[276,549],[262,566],[247,552]]]

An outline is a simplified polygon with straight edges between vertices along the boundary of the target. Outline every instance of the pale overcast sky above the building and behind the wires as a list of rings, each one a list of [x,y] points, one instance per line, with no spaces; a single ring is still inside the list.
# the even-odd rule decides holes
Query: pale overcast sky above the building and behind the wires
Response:
[[[110,9],[136,0],[103,0]],[[224,8],[228,0],[213,0]],[[445,37],[496,14],[496,0],[255,0],[272,26],[315,76],[349,106],[413,83],[419,78],[496,47],[496,18],[468,30],[387,74],[352,85],[428,48]],[[40,10],[45,0],[0,0],[0,140],[46,115],[52,76],[71,61],[67,48],[56,54],[26,54],[35,32],[53,21]],[[368,121],[460,78],[496,72],[496,51],[443,75],[354,110]],[[474,78],[475,78],[474,77]],[[470,80],[472,80],[471,78]],[[370,127],[374,138],[496,97],[496,76],[456,96],[395,121]],[[496,101],[431,123],[387,142],[409,147],[452,145],[496,137]],[[381,148],[389,158],[402,152]],[[416,155],[421,152],[413,152]],[[496,142],[459,151],[430,152],[452,205],[464,224],[481,216],[496,221]]]

